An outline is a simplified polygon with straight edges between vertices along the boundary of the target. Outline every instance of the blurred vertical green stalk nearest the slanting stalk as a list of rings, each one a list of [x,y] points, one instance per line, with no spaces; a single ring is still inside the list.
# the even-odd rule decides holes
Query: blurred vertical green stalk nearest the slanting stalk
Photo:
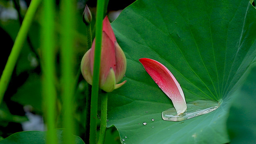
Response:
[[[37,1],[37,0],[32,0]],[[56,117],[56,89],[54,85],[55,79],[55,40],[54,40],[54,2],[52,0],[44,1],[44,18],[42,27],[42,71],[43,71],[43,104],[44,113],[46,114],[47,123],[47,144],[57,144],[57,136],[54,129]]]

